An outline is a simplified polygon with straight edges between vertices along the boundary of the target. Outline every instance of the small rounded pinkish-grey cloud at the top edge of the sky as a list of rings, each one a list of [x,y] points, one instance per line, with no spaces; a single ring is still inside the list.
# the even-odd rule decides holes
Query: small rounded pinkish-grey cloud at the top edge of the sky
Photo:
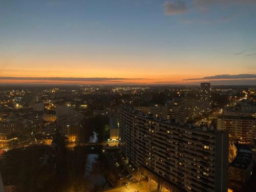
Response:
[[[164,3],[164,14],[165,15],[178,15],[185,14],[188,12],[188,8],[183,1],[170,2],[167,1]]]

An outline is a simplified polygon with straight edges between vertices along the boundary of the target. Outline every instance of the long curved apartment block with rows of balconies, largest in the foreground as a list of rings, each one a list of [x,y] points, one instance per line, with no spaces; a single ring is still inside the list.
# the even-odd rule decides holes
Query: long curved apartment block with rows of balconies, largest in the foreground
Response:
[[[227,191],[228,134],[120,110],[122,153],[185,191]]]

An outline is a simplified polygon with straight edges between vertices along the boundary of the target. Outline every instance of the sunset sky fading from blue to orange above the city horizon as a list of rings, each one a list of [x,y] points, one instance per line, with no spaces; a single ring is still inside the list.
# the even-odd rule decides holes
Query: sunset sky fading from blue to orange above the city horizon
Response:
[[[0,83],[256,84],[255,74],[255,0],[0,1]]]

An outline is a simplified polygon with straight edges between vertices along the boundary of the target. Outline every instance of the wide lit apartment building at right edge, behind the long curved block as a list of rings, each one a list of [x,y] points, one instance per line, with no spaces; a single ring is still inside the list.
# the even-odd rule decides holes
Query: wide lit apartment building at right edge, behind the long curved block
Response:
[[[256,118],[221,115],[217,119],[217,129],[227,131],[230,141],[253,144],[256,139]]]

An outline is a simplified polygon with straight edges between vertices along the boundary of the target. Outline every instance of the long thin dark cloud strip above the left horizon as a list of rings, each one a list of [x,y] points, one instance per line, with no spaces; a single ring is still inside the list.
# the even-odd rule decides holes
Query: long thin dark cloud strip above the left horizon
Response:
[[[8,80],[50,80],[50,81],[90,81],[90,82],[123,82],[125,80],[143,80],[144,78],[105,78],[105,77],[0,77]]]

